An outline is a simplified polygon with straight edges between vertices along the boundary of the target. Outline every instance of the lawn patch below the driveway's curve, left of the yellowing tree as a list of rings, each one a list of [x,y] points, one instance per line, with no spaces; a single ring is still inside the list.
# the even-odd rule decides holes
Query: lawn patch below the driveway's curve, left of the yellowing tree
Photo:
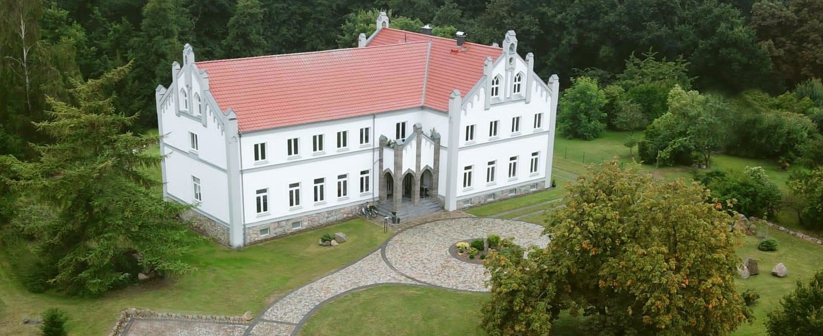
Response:
[[[352,292],[309,318],[300,335],[484,335],[481,293],[385,285]]]

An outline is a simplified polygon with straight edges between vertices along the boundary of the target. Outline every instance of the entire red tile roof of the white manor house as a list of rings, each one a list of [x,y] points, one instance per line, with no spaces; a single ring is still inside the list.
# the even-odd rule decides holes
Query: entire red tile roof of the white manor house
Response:
[[[453,39],[380,30],[368,48],[197,62],[208,72],[220,108],[237,114],[239,131],[320,122],[403,108],[449,108],[483,75],[501,49],[456,48]],[[425,96],[424,96],[425,90]]]

